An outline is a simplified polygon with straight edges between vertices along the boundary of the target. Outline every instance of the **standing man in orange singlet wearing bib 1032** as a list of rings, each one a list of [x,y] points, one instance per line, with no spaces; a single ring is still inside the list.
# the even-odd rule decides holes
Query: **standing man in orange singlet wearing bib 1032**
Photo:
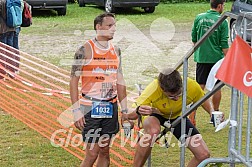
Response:
[[[81,167],[108,167],[109,144],[119,131],[118,105],[127,112],[126,86],[123,79],[119,48],[110,40],[115,33],[115,17],[104,13],[94,20],[96,37],[88,40],[75,53],[70,80],[74,125],[82,131],[87,143]],[[79,98],[78,83],[82,81]]]

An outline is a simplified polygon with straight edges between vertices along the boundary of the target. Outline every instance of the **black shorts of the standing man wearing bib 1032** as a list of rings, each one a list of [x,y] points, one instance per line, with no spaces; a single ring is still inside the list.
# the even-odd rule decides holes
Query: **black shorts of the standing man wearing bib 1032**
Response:
[[[102,135],[111,138],[119,131],[117,103],[113,103],[112,118],[91,118],[92,106],[81,105],[81,109],[84,111],[86,121],[82,131],[84,142],[97,143]]]

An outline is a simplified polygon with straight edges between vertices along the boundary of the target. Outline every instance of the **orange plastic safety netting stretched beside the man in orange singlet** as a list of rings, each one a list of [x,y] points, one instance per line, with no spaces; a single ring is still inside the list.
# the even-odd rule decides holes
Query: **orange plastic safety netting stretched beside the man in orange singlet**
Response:
[[[48,138],[52,147],[61,146],[82,160],[85,143],[71,123],[69,76],[68,71],[0,43],[0,108]],[[110,149],[112,166],[132,166],[131,144],[121,133],[116,135]]]

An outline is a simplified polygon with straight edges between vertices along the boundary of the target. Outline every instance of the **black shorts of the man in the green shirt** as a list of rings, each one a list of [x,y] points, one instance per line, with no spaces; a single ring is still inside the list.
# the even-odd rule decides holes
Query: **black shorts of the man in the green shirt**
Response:
[[[198,84],[205,85],[207,77],[215,63],[197,63],[196,81]]]

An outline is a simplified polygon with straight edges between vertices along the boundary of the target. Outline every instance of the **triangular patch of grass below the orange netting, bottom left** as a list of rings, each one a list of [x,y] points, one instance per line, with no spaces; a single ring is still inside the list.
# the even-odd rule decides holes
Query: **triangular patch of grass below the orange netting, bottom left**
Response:
[[[0,111],[0,166],[78,166],[80,161],[9,114]]]

